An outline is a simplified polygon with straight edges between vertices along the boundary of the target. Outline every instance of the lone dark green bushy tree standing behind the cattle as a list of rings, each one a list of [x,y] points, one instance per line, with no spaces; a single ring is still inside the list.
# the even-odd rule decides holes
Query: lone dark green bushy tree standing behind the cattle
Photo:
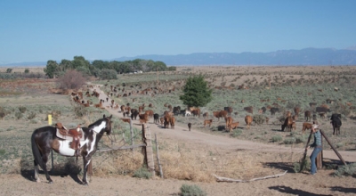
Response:
[[[209,89],[202,75],[190,77],[183,86],[183,94],[179,97],[188,107],[205,106],[213,100],[213,90]]]

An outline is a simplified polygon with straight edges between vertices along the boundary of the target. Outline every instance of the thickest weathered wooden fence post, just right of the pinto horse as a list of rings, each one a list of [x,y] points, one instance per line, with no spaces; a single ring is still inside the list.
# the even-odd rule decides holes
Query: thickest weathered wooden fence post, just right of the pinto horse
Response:
[[[152,173],[152,176],[155,176],[155,162],[153,160],[153,149],[152,143],[150,139],[150,128],[146,127],[145,123],[142,123],[142,140],[143,143],[146,143],[144,146],[143,153],[144,153],[144,163],[146,164],[149,171]]]

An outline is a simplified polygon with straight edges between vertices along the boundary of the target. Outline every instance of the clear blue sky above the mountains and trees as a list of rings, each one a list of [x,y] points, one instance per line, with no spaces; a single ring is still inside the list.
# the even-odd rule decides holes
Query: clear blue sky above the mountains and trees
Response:
[[[356,45],[355,0],[2,0],[0,62]]]

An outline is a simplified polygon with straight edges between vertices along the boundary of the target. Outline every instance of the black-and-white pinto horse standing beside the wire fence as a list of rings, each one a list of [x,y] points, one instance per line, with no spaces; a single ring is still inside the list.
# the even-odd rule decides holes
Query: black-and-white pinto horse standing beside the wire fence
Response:
[[[80,141],[79,154],[83,157],[84,162],[84,173],[83,173],[83,184],[88,185],[87,182],[87,169],[89,163],[92,160],[92,156],[97,150],[99,141],[102,135],[111,134],[111,118],[103,116],[103,118],[97,120],[89,127],[82,127],[84,133],[84,141]],[[48,155],[50,152],[56,151],[62,156],[74,157],[76,151],[70,148],[71,140],[63,140],[56,136],[56,127],[40,127],[37,128],[31,136],[31,146],[32,153],[34,155],[35,163],[35,180],[40,182],[38,177],[38,165],[44,170],[45,177],[49,184],[53,181],[48,174],[46,163],[48,160]]]

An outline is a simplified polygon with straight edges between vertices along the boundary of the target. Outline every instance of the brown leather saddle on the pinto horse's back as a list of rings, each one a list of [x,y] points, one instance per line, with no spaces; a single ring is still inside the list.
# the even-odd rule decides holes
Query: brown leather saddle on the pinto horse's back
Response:
[[[80,149],[80,140],[84,140],[83,130],[80,127],[80,124],[76,128],[67,129],[64,127],[61,122],[55,124],[57,127],[56,135],[61,139],[72,139],[72,143],[70,143],[70,148],[75,150],[75,156],[79,156]]]

